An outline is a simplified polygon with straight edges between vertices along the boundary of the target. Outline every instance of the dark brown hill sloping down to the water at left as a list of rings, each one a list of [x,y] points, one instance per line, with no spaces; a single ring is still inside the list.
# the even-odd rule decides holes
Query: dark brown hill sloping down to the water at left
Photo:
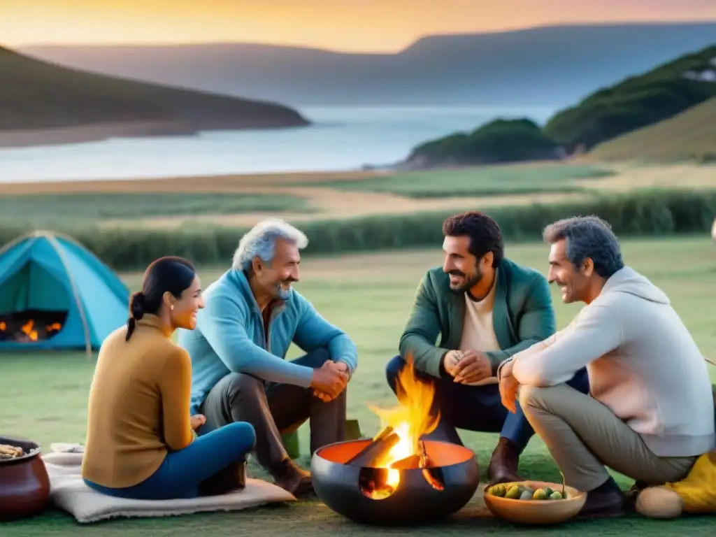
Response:
[[[308,122],[283,105],[81,72],[0,47],[0,132],[105,125],[111,135],[132,124],[192,132]]]

